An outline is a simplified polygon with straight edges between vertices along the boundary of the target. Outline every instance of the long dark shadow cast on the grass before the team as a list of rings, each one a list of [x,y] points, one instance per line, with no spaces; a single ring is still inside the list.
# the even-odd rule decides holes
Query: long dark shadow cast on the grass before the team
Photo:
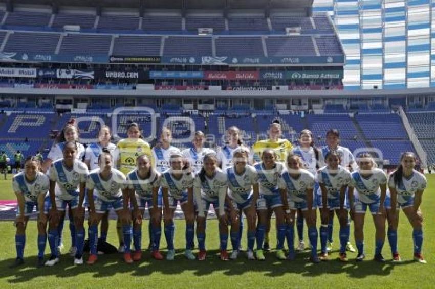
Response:
[[[293,261],[277,260],[273,252],[266,254],[265,261],[246,259],[245,253],[241,253],[237,260],[222,261],[219,251],[207,252],[207,259],[203,262],[187,260],[183,256],[183,250],[177,250],[175,261],[157,261],[150,257],[148,252],[143,252],[142,261],[134,264],[126,264],[121,254],[101,255],[96,264],[88,266],[74,266],[73,257],[68,254],[61,256],[61,261],[54,267],[36,268],[36,256],[26,257],[25,264],[21,267],[10,269],[14,259],[0,261],[0,279],[6,278],[10,284],[19,284],[31,281],[34,278],[52,276],[57,278],[78,277],[81,274],[92,274],[94,278],[112,277],[118,273],[131,273],[135,277],[150,276],[154,273],[164,275],[179,275],[190,273],[195,276],[206,276],[222,273],[226,276],[237,276],[245,273],[263,274],[266,277],[277,277],[285,274],[301,274],[305,277],[319,277],[329,274],[347,274],[350,278],[364,278],[366,276],[389,275],[396,266],[409,264],[412,260],[402,263],[390,261],[378,263],[371,260],[355,262],[340,262],[331,259],[319,264],[311,263],[308,258],[310,253],[299,253]],[[85,255],[85,258],[87,255]]]

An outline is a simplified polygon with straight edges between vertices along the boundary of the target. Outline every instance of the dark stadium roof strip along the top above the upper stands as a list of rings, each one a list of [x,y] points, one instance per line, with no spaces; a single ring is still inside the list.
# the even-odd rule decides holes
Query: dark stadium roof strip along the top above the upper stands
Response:
[[[296,9],[310,8],[313,0],[1,0],[10,4],[138,9]]]

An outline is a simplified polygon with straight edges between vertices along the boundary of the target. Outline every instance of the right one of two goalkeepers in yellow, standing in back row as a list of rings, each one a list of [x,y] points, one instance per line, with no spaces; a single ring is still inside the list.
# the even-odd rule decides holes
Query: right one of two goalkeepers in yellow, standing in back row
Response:
[[[282,129],[279,121],[273,121],[269,126],[269,139],[267,140],[258,140],[252,146],[252,150],[254,153],[254,160],[259,162],[262,160],[262,154],[264,150],[271,149],[276,155],[277,162],[285,162],[287,158],[287,154],[292,150],[292,144],[288,139],[281,138]],[[272,218],[272,210],[269,210],[267,215],[266,222],[266,234],[265,234],[265,243],[264,249],[269,251],[269,232],[270,232],[270,221]]]

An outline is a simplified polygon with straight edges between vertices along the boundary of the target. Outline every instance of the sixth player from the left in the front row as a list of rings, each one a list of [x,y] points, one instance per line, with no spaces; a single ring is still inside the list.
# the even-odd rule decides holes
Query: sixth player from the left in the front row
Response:
[[[193,192],[197,204],[197,239],[200,252],[198,259],[205,260],[205,223],[210,204],[219,216],[219,237],[221,242],[221,259],[228,260],[228,216],[225,213],[225,199],[227,196],[227,175],[217,167],[217,156],[209,153],[204,156],[204,166],[195,176]],[[237,218],[236,212],[231,212],[232,219]],[[237,218],[238,219],[238,218]]]

